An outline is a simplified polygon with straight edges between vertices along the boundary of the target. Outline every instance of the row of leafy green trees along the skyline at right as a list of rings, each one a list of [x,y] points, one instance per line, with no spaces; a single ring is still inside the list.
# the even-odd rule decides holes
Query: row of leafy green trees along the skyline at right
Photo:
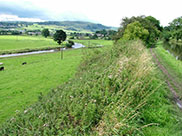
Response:
[[[125,17],[113,39],[116,42],[140,39],[147,47],[155,47],[160,39],[165,48],[182,60],[182,17],[174,19],[166,27],[162,27],[160,21],[152,16]]]

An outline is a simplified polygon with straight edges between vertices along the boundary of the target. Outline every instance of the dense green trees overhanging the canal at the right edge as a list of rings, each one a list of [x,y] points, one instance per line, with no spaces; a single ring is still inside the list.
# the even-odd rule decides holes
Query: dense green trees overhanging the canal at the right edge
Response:
[[[182,60],[182,17],[174,19],[164,28],[163,40],[166,48]]]

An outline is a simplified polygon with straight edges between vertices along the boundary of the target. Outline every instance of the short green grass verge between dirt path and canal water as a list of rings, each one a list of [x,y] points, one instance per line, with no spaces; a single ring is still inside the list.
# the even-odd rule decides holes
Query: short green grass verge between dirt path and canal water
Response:
[[[182,85],[182,61],[176,60],[173,55],[163,48],[162,44],[162,42],[158,42],[158,45],[155,48],[155,52],[158,55],[159,61],[167,69],[173,79],[179,85]],[[179,93],[179,96],[182,96],[182,89],[176,91]]]

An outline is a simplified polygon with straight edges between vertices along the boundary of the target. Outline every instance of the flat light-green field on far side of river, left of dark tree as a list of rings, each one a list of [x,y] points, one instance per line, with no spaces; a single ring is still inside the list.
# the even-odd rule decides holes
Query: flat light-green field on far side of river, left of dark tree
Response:
[[[56,46],[58,44],[53,39],[41,36],[0,36],[0,52]]]

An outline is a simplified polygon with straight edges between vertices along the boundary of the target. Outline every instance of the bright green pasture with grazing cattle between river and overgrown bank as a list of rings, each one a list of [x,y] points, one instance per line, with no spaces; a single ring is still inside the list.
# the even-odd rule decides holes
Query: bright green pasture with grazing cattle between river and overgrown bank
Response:
[[[35,42],[36,43],[36,42]],[[0,71],[0,123],[68,81],[80,64],[81,50],[0,59],[5,71]],[[27,62],[22,65],[22,62]]]

